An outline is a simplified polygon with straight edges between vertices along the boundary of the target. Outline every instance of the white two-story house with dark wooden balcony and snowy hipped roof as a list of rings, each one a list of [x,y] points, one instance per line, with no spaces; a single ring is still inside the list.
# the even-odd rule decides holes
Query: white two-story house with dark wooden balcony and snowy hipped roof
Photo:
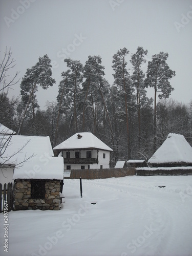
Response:
[[[113,150],[91,132],[76,133],[53,148],[64,159],[64,169],[106,169]]]

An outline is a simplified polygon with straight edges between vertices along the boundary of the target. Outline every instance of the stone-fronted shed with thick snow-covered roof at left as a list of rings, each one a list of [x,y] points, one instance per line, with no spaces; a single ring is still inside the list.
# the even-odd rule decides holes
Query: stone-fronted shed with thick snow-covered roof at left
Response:
[[[63,158],[54,157],[49,137],[13,135],[2,158],[12,167],[15,210],[59,209]]]

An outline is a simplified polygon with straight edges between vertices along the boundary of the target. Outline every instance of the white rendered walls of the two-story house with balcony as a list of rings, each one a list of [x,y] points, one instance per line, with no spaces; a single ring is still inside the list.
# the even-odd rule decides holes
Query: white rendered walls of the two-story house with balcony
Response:
[[[92,158],[97,158],[97,150],[81,150],[80,151],[80,158],[87,158],[87,152],[88,151],[92,151]],[[68,151],[67,151],[68,152]],[[78,152],[78,150],[76,151],[69,151],[70,152],[70,158],[75,158],[75,152]],[[105,154],[105,158],[103,158],[103,154]],[[63,151],[63,158],[66,158],[66,151]],[[88,164],[68,164],[65,163],[64,161],[64,169],[67,169],[67,165],[71,166],[71,169],[81,169],[81,165],[84,166],[85,169],[88,169]],[[94,163],[94,164],[90,164],[90,169],[100,169],[102,165],[103,169],[108,169],[110,167],[110,152],[109,151],[102,151],[99,150],[98,152],[98,164]]]

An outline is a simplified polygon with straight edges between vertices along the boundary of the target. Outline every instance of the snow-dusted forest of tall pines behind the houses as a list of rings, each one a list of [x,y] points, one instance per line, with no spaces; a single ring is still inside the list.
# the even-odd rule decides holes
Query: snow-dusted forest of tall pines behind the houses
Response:
[[[15,65],[11,54],[6,49],[0,67],[0,122],[17,134],[49,136],[55,146],[76,132],[92,132],[113,149],[112,166],[118,160],[147,160],[168,133],[182,134],[192,145],[192,101],[169,99],[174,90],[170,80],[176,74],[167,65],[167,53],[153,55],[144,72],[147,50],[138,47],[130,55],[126,48],[120,49],[111,63],[113,84],[104,78],[100,56],[88,56],[84,66],[67,58],[57,99],[45,110],[39,108],[36,95],[39,87],[46,90],[56,83],[50,58],[39,57],[27,69],[20,81],[20,97],[10,99],[8,89],[19,83],[18,73],[8,80]],[[154,89],[153,98],[147,97],[148,87]]]

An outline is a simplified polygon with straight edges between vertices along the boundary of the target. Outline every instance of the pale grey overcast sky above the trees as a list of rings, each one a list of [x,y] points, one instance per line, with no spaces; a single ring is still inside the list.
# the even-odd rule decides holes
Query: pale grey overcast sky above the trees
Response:
[[[56,101],[60,74],[67,70],[64,58],[84,65],[89,55],[100,55],[105,78],[113,84],[113,55],[127,48],[131,68],[138,46],[148,50],[147,60],[167,52],[167,63],[176,71],[170,97],[183,103],[192,99],[192,0],[0,0],[0,17],[1,59],[11,47],[21,79],[39,56],[52,60],[56,84],[39,90],[41,108]],[[18,83],[10,96],[19,91]]]

